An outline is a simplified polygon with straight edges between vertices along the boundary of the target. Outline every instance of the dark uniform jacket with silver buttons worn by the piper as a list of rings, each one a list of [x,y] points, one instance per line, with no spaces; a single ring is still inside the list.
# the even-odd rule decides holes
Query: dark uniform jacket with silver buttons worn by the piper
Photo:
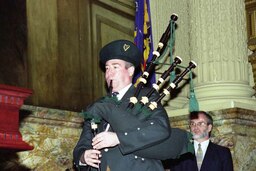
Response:
[[[126,110],[129,99],[134,95],[134,92],[135,88],[132,86],[122,98],[120,108]],[[140,96],[142,94],[145,95],[147,92],[148,89],[142,89]],[[159,95],[153,94],[152,98],[156,96]],[[120,113],[116,113],[116,115],[118,114]],[[122,122],[129,123],[130,121],[129,118],[126,118]],[[104,121],[100,123],[99,129],[101,131],[104,130],[103,127],[105,124]],[[169,136],[169,130],[168,116],[161,105],[153,111],[143,126],[133,127],[131,125],[127,130],[112,130],[117,133],[120,144],[116,147],[108,148],[108,151],[102,150],[101,171],[163,171],[164,169],[160,160],[149,159],[145,156],[141,157],[135,153],[138,150],[143,150],[165,140]],[[79,159],[85,150],[92,148],[91,139],[90,122],[85,121],[80,139],[73,152],[75,165],[81,170],[89,168],[89,166],[79,166]]]

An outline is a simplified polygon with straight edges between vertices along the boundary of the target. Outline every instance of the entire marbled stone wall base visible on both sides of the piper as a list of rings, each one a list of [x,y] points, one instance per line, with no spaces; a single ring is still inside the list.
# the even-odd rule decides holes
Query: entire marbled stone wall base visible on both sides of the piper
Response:
[[[214,119],[211,140],[229,147],[235,171],[255,171],[256,111],[230,108],[209,112]],[[79,113],[23,106],[20,131],[24,141],[34,146],[26,152],[1,152],[0,168],[19,171],[63,171],[73,169],[73,149],[81,133]],[[188,115],[170,117],[172,127],[188,130]]]

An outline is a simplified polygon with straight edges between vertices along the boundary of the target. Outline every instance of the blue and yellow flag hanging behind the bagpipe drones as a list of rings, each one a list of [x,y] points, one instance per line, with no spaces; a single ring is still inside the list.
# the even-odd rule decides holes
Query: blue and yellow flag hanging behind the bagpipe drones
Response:
[[[143,54],[143,61],[141,63],[140,70],[135,73],[133,83],[136,83],[138,78],[146,70],[147,64],[152,60],[152,52],[154,49],[149,0],[135,0],[135,5],[134,43],[141,50],[141,53]],[[148,84],[152,85],[155,82],[155,72],[152,71],[148,78]]]

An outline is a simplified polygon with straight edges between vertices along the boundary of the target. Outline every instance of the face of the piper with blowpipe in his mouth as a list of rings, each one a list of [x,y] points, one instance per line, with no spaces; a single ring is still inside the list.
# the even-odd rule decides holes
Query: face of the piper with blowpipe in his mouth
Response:
[[[112,91],[118,92],[132,82],[134,67],[126,68],[125,65],[126,62],[120,59],[111,59],[106,62],[105,79],[108,87],[112,80]]]

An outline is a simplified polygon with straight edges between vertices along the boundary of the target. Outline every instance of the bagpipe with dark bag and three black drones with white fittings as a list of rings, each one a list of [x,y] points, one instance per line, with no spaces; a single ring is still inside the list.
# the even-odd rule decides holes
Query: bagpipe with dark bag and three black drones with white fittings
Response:
[[[177,19],[177,15],[173,14],[171,16],[170,25],[175,24]],[[166,31],[162,35],[160,42],[158,43],[157,50],[153,52],[153,59],[141,76],[140,82],[136,87],[133,97],[130,98],[128,106],[126,108],[121,108],[120,105],[122,104],[122,101],[117,100],[116,97],[106,96],[90,106],[85,112],[82,112],[85,119],[91,120],[96,124],[105,120],[111,125],[114,132],[124,132],[127,129],[143,127],[148,124],[148,118],[150,118],[154,110],[157,110],[161,100],[166,95],[170,94],[173,89],[177,88],[184,76],[197,66],[194,61],[190,61],[184,71],[177,75],[169,86],[164,89],[159,96],[157,96],[157,98],[152,98],[151,96],[159,90],[159,87],[168,78],[170,72],[172,72],[175,67],[182,62],[182,59],[176,56],[174,58],[174,62],[161,75],[157,83],[153,84],[152,88],[149,89],[145,95],[141,95],[141,91],[144,89],[143,85],[146,84],[149,74],[156,65],[155,60],[163,53],[170,35],[173,34],[173,30],[170,28],[170,25],[168,25]],[[109,89],[111,92],[111,84]],[[138,100],[139,97],[141,98],[140,100]],[[93,129],[95,130],[95,124],[93,125]],[[143,158],[158,160],[170,158],[175,159],[184,153],[194,152],[191,139],[192,137],[189,132],[179,128],[170,128],[170,135],[166,139],[158,143],[152,143],[151,146],[132,153]]]

